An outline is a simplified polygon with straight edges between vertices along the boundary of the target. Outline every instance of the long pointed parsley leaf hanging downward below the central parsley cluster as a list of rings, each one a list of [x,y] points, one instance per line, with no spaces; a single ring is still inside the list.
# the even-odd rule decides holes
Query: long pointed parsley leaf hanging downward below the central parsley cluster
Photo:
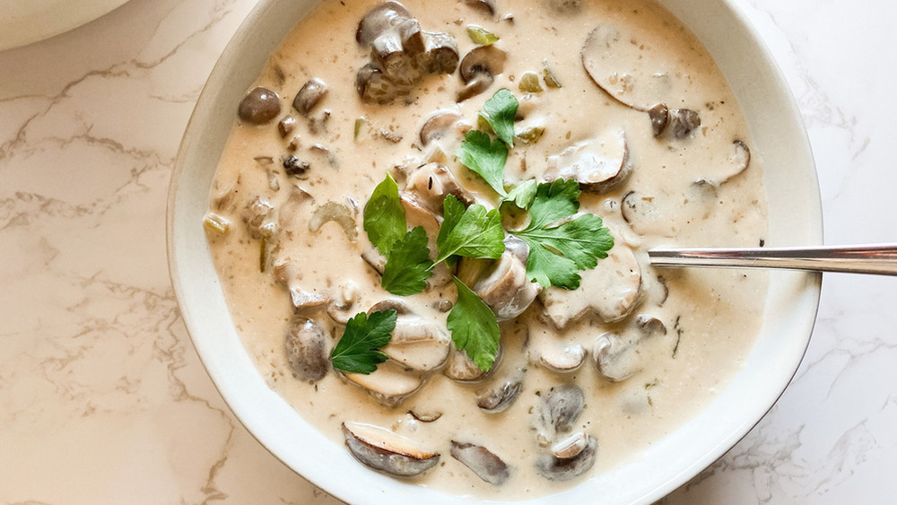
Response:
[[[492,309],[476,293],[453,278],[457,287],[457,301],[448,312],[448,331],[458,349],[476,363],[480,370],[492,369],[498,353],[501,331]]]

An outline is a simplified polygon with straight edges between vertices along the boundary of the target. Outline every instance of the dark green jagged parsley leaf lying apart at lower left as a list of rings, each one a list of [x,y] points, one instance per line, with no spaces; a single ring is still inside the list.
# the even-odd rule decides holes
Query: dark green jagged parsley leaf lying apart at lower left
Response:
[[[330,361],[337,370],[369,374],[389,357],[379,349],[392,338],[396,329],[395,310],[377,310],[370,317],[361,312],[349,319],[343,336],[336,343]]]

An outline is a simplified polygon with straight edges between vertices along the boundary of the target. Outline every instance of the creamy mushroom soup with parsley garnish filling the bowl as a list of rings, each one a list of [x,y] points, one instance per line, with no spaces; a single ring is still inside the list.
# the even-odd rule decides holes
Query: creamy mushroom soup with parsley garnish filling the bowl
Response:
[[[647,260],[766,232],[745,119],[658,4],[325,1],[223,106],[205,229],[233,322],[359,465],[557,492],[750,350],[763,274]]]

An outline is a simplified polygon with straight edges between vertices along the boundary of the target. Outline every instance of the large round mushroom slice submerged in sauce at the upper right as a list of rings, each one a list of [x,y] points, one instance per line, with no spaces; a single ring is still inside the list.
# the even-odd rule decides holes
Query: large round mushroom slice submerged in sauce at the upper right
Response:
[[[666,43],[651,30],[639,23],[601,24],[588,34],[581,51],[592,81],[632,109],[647,111],[676,98],[676,74],[665,54]]]

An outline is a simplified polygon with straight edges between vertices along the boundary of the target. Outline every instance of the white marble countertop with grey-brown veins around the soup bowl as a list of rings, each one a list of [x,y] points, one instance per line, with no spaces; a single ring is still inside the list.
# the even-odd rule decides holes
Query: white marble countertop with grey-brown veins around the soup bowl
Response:
[[[897,240],[897,6],[738,3],[803,112],[826,243]],[[0,52],[0,503],[337,502],[234,419],[168,276],[180,135],[253,4],[132,0]],[[893,502],[895,307],[893,278],[825,274],[779,403],[665,502]]]

